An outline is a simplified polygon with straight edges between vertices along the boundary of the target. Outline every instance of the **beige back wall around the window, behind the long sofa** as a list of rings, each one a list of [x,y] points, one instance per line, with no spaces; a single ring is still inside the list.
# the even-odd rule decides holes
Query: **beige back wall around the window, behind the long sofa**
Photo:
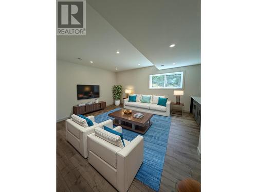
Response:
[[[183,110],[190,109],[190,96],[200,96],[200,65],[173,68],[167,70],[158,70],[155,66],[135,69],[124,72],[117,72],[117,84],[123,88],[123,96],[125,89],[132,89],[134,93],[146,95],[166,95],[169,100],[176,102],[176,96],[173,90],[150,90],[149,75],[159,73],[169,73],[185,71],[184,95],[180,96],[180,102],[185,103]]]

